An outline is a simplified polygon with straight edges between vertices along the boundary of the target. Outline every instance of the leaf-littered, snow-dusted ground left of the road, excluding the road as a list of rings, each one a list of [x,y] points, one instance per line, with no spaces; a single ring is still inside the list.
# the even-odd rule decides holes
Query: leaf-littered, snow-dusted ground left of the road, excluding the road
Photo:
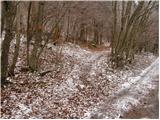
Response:
[[[1,118],[92,117],[90,110],[98,111],[97,106],[100,107],[120,88],[130,89],[131,83],[136,82],[134,77],[156,59],[150,53],[136,55],[134,66],[113,70],[108,64],[108,50],[84,50],[71,43],[48,45],[41,56],[43,63],[39,69],[53,71],[41,77],[40,71],[20,72],[25,66],[24,48],[20,49],[16,75],[8,78],[14,84],[2,91]],[[130,100],[133,99],[126,99]],[[99,116],[107,118],[103,112]]]

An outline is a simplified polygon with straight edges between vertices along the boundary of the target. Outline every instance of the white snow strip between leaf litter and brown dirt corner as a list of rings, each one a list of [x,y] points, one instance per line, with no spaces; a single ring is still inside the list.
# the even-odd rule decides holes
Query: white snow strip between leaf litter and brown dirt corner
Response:
[[[152,90],[158,90],[158,76],[159,59],[155,60],[155,62],[143,70],[139,76],[134,78],[129,77],[128,81],[123,83],[117,92],[113,93],[109,98],[106,98],[106,101],[102,104],[103,106],[101,106],[100,110],[91,109],[87,112],[85,118],[123,118],[123,115],[126,112],[137,106],[144,106],[144,103],[146,103],[148,99],[154,99],[150,94]],[[157,93],[154,97],[157,97],[158,91],[154,92]],[[154,106],[154,104],[157,103],[149,103],[149,105],[150,104],[151,106]],[[145,105],[146,108],[149,107],[149,105]],[[143,113],[144,110],[139,112]],[[154,113],[149,113],[143,117],[158,118],[158,113],[158,109],[156,109]]]

